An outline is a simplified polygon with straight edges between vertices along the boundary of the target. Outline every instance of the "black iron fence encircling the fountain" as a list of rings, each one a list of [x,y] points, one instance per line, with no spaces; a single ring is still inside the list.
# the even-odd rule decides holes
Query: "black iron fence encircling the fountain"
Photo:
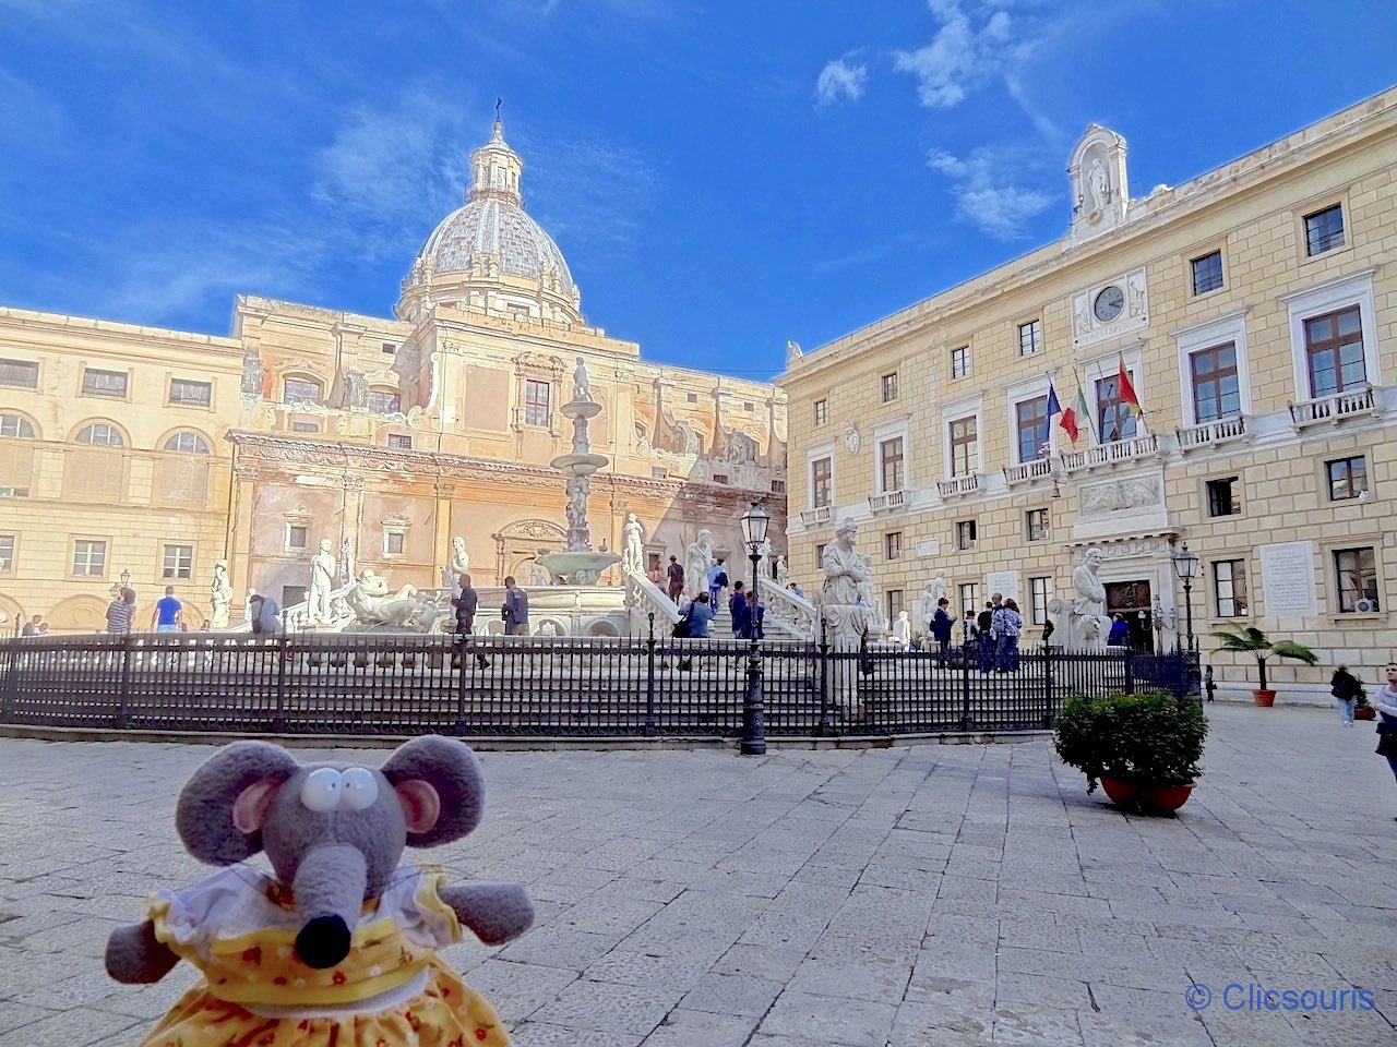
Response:
[[[1051,727],[1066,698],[1197,690],[1197,656],[834,651],[729,639],[446,635],[0,641],[0,722],[119,730],[771,737]],[[747,730],[750,732],[750,723]]]

